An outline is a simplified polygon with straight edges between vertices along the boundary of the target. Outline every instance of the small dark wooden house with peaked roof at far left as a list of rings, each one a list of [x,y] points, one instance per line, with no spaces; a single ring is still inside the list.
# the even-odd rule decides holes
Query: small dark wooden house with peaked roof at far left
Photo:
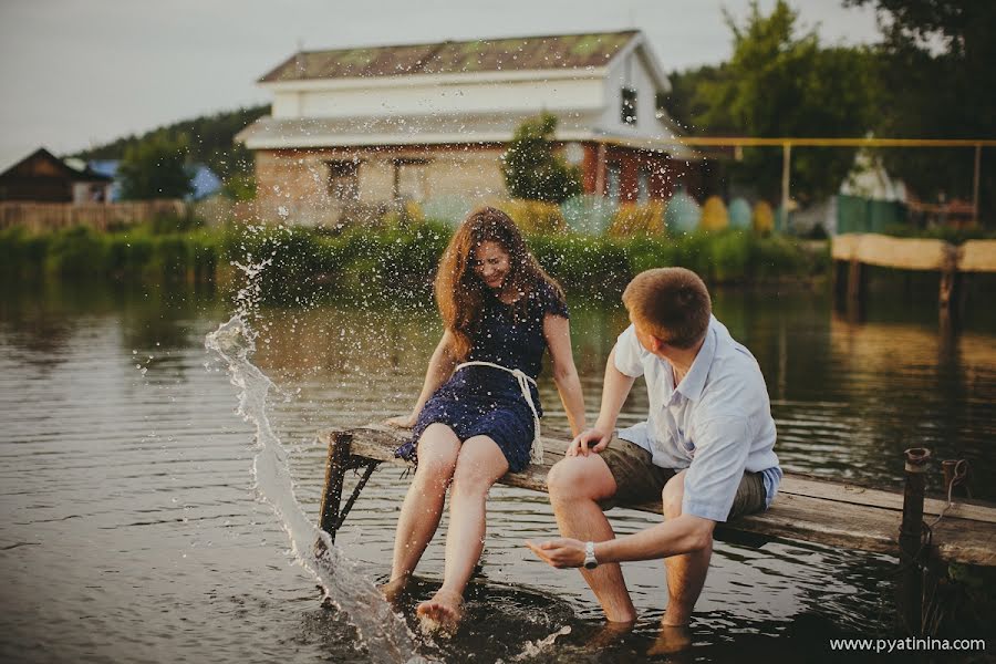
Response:
[[[40,147],[0,173],[0,200],[20,203],[106,203],[112,178],[79,160],[62,160]]]

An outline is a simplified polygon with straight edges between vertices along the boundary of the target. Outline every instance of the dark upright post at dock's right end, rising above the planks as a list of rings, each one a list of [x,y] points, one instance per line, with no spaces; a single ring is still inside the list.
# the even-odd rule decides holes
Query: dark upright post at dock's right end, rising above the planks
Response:
[[[923,631],[923,577],[927,551],[923,538],[923,491],[931,450],[913,447],[905,450],[906,485],[903,490],[903,520],[900,526],[900,577],[896,589],[896,619],[907,635]]]

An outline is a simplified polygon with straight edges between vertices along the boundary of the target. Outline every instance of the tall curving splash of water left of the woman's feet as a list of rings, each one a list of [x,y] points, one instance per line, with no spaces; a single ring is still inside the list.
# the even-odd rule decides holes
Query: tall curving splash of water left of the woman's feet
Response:
[[[415,640],[405,622],[381,596],[356,563],[336,548],[329,535],[307,517],[293,494],[287,450],[270,427],[267,394],[272,381],[251,362],[256,335],[234,315],[205,338],[205,347],[227,365],[231,384],[239,391],[238,413],[256,425],[257,455],[252,473],[257,491],[280,519],[295,560],[311,572],[325,598],[346,613],[364,641],[373,662],[426,662],[415,652]],[[321,544],[318,544],[321,542]]]

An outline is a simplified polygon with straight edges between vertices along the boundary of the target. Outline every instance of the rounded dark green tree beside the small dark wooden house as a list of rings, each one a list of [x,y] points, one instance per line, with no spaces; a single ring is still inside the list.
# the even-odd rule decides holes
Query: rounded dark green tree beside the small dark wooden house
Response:
[[[118,167],[122,198],[183,198],[194,191],[187,166],[190,142],[186,135],[170,138],[165,133],[128,146]]]

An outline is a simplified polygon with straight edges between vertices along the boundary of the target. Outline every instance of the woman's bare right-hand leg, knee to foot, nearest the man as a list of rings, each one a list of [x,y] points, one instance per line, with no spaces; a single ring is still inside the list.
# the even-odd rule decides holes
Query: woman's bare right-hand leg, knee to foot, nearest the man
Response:
[[[488,490],[507,471],[508,461],[495,440],[475,436],[464,442],[449,494],[443,588],[417,609],[429,627],[437,623],[446,631],[454,631],[459,624],[464,589],[484,549]]]

